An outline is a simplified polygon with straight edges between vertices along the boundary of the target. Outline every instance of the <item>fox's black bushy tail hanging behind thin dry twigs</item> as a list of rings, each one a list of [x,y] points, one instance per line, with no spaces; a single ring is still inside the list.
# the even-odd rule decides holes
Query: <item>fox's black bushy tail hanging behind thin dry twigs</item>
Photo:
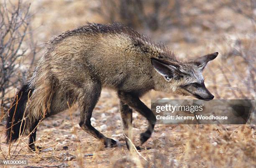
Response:
[[[32,90],[28,89],[28,84],[22,86],[15,96],[12,106],[8,111],[7,124],[6,124],[6,142],[10,143],[16,141],[24,132],[24,126],[26,129],[26,120],[23,120],[26,103],[28,101],[28,96],[31,96]],[[30,91],[30,92],[29,92]],[[28,95],[29,94],[29,95]],[[18,100],[18,102],[17,102]],[[24,116],[25,118],[26,116]],[[21,127],[21,128],[20,128]]]

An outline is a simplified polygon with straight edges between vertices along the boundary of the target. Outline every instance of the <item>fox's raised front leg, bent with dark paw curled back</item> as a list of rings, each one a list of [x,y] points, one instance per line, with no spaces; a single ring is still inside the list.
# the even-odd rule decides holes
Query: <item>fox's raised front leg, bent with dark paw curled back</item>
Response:
[[[131,108],[138,111],[142,116],[146,117],[148,120],[148,128],[145,132],[141,133],[140,141],[141,145],[148,140],[148,138],[151,137],[151,134],[154,130],[154,126],[156,124],[156,116],[154,113],[139,99],[138,96],[118,91],[118,97],[121,101],[125,102],[125,104],[128,104]]]

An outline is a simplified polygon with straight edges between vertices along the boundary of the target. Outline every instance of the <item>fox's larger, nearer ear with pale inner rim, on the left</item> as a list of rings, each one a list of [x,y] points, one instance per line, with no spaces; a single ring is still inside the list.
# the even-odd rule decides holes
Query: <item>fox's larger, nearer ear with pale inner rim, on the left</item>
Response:
[[[176,62],[167,62],[161,59],[151,58],[151,64],[156,72],[161,74],[168,82],[174,77],[175,74],[181,74],[180,66]]]

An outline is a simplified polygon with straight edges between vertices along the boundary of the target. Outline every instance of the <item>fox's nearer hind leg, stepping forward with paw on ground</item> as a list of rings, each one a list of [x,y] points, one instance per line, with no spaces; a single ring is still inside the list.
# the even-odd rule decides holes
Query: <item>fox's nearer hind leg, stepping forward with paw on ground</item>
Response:
[[[90,119],[92,117],[92,111],[100,97],[100,92],[101,86],[99,83],[90,83],[90,89],[88,89],[86,93],[84,93],[85,96],[79,102],[81,110],[79,126],[84,131],[86,131],[87,133],[99,139],[102,143],[104,143],[105,147],[113,147],[116,145],[116,141],[105,137],[102,133],[100,133],[91,125]]]

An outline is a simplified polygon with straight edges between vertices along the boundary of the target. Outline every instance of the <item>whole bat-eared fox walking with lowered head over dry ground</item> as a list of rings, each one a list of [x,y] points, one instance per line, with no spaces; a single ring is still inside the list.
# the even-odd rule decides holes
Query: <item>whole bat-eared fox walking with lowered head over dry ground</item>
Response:
[[[44,51],[8,111],[7,143],[30,133],[29,147],[40,149],[35,146],[38,122],[75,102],[81,111],[79,126],[105,147],[116,146],[115,140],[97,131],[90,121],[103,87],[115,90],[120,99],[126,136],[132,109],[148,120],[147,130],[140,135],[141,145],[156,123],[153,112],[140,100],[146,92],[154,89],[197,99],[214,98],[205,87],[202,70],[218,52],[182,61],[164,44],[155,44],[120,24],[88,23],[53,37]],[[126,138],[128,148],[129,144]]]

